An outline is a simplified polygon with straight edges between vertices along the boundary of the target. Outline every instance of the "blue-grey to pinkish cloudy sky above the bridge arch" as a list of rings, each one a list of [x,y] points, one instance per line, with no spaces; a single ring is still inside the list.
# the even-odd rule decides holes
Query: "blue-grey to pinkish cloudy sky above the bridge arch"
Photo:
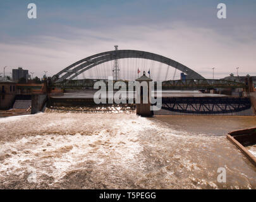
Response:
[[[28,4],[37,18],[27,17]],[[217,18],[217,4],[227,18]],[[254,0],[0,1],[0,74],[52,76],[85,57],[119,49],[153,52],[205,78],[256,76]],[[163,72],[164,74],[164,72]],[[3,76],[3,74],[1,75]]]

